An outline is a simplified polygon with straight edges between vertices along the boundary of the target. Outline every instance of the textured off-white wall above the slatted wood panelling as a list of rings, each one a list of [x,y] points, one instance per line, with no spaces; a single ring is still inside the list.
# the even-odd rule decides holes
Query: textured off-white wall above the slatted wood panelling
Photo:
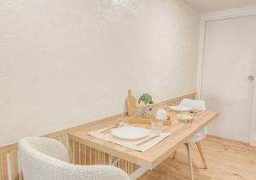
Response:
[[[0,2],[0,145],[195,90],[199,15],[181,0]]]

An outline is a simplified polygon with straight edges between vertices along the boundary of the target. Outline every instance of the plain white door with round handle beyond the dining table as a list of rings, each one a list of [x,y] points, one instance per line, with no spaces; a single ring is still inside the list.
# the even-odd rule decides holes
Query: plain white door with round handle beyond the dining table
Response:
[[[206,24],[202,98],[218,118],[207,133],[250,142],[256,67],[256,15]]]

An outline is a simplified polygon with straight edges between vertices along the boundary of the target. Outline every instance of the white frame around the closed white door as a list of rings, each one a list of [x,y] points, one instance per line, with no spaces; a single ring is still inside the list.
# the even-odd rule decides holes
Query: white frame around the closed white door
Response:
[[[203,80],[203,65],[204,65],[204,50],[205,50],[205,35],[206,35],[206,24],[210,21],[215,20],[227,20],[239,17],[256,15],[256,5],[247,6],[237,9],[226,9],[215,11],[212,13],[206,13],[201,15],[200,20],[200,37],[199,37],[199,52],[198,52],[198,67],[197,67],[197,97],[201,98],[202,80]],[[256,77],[256,73],[255,73]],[[251,119],[251,136],[250,144],[256,147],[256,80],[254,80],[253,90],[253,111]]]

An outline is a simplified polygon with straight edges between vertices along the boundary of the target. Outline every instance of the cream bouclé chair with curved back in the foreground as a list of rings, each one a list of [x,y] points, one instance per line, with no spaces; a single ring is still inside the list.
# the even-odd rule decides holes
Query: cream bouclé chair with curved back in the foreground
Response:
[[[26,137],[19,142],[20,167],[25,180],[130,180],[111,165],[73,165],[67,148],[47,137]]]

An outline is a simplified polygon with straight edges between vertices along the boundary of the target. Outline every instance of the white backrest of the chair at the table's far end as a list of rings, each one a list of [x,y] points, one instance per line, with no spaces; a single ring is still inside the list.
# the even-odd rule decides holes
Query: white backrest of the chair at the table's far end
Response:
[[[199,109],[199,110],[206,110],[206,102],[202,101],[202,100],[192,100],[192,99],[185,98],[179,103],[179,105],[186,106],[186,107],[192,107],[194,109]],[[200,133],[202,136],[206,136],[207,130],[204,127],[197,133]]]

